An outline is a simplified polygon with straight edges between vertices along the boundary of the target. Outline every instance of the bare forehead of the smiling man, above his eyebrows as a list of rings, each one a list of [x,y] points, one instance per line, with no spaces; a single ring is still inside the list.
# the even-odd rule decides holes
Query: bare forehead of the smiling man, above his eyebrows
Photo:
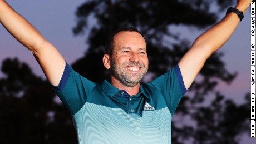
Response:
[[[114,37],[114,48],[139,47],[146,48],[144,37],[138,32],[119,32]]]

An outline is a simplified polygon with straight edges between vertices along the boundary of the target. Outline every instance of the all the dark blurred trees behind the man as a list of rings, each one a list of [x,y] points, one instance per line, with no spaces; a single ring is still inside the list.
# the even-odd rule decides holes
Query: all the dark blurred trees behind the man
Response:
[[[206,0],[86,1],[77,9],[73,32],[88,33],[89,47],[72,67],[89,80],[103,81],[109,74],[102,65],[105,39],[117,28],[133,26],[147,41],[150,65],[144,82],[150,81],[173,67],[191,46],[187,39],[172,33],[170,26],[203,29],[213,25],[219,11],[209,12],[211,4]],[[221,11],[230,4],[219,0],[216,7]],[[90,23],[92,18],[95,23]],[[230,83],[237,75],[225,68],[221,56],[217,52],[206,61],[200,80],[193,83],[176,110],[173,143],[239,143],[237,137],[249,130],[249,94],[246,103],[237,105],[215,90],[219,81]],[[47,81],[18,59],[3,61],[1,71],[0,143],[77,143],[71,117]],[[214,98],[204,106],[209,93]]]

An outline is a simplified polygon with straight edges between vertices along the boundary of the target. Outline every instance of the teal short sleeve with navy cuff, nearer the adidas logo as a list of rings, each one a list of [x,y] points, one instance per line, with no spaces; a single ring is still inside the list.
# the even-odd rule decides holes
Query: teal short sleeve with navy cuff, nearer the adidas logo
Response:
[[[186,93],[186,88],[178,64],[149,84],[163,94],[171,115],[173,115],[181,98]]]

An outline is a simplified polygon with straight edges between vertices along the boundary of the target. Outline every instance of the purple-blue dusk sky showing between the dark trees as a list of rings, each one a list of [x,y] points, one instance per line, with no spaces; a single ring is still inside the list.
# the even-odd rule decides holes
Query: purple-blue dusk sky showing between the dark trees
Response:
[[[9,0],[7,2],[32,23],[61,52],[68,63],[72,64],[83,56],[87,48],[86,38],[85,36],[74,36],[72,28],[76,26],[75,11],[85,0]],[[219,13],[219,18],[224,16],[225,11]],[[199,31],[196,28],[184,26],[171,26],[170,28],[174,33],[179,33],[181,37],[189,39],[191,43],[205,31],[205,29]],[[217,90],[237,103],[244,102],[245,93],[250,92],[249,9],[244,14],[244,19],[239,24],[237,31],[220,51],[224,53],[222,59],[227,69],[230,72],[238,72],[238,76],[230,85],[221,83]],[[8,57],[18,57],[20,61],[28,63],[36,75],[45,78],[32,54],[0,26],[0,62],[2,63],[3,59]],[[0,77],[2,76],[0,73]],[[250,138],[248,143],[254,140]]]

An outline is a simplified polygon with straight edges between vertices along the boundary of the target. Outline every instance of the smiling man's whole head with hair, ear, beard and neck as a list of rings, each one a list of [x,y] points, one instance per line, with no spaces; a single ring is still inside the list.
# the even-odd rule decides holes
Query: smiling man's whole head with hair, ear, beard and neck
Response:
[[[125,27],[115,33],[113,44],[106,44],[108,53],[103,58],[104,66],[111,71],[112,85],[135,95],[138,91],[134,90],[139,88],[149,67],[146,42],[135,28]]]

